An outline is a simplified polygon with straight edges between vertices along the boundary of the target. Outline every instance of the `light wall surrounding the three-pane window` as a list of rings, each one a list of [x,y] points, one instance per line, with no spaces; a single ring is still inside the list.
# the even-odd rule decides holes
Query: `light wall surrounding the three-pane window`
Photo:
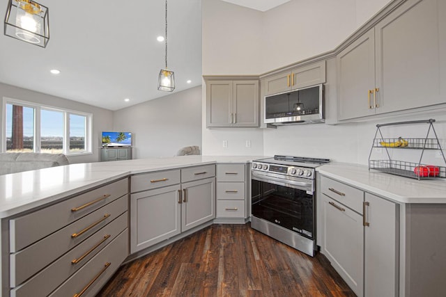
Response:
[[[61,109],[70,109],[72,111],[82,111],[85,113],[93,113],[93,154],[85,154],[81,156],[68,156],[70,163],[86,163],[97,162],[100,160],[100,134],[101,131],[107,131],[111,129],[113,125],[113,112],[107,109],[101,109],[99,107],[91,106],[88,104],[82,104],[61,97],[55,97],[43,93],[34,92],[32,90],[26,90],[24,88],[18,88],[10,86],[5,83],[0,83],[0,99],[8,97],[12,99],[19,99],[22,101],[33,102],[37,104],[43,104],[46,106],[59,107]],[[0,117],[3,117],[3,104],[0,104]],[[0,121],[0,137],[4,136],[3,118]]]

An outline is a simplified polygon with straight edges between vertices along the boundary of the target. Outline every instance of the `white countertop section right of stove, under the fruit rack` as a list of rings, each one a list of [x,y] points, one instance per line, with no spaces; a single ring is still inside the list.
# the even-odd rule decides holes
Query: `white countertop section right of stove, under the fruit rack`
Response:
[[[446,203],[446,179],[419,181],[376,170],[369,171],[368,166],[351,163],[329,163],[316,168],[316,172],[395,202]]]

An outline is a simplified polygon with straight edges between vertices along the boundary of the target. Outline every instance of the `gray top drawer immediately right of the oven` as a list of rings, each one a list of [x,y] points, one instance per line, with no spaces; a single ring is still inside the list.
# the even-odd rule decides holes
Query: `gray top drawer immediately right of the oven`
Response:
[[[321,176],[321,192],[362,214],[362,202],[364,201],[363,191],[337,182],[334,179]]]

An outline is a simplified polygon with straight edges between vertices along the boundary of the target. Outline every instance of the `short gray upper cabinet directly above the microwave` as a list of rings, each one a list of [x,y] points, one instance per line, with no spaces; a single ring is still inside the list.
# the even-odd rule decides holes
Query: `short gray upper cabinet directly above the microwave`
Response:
[[[295,67],[263,79],[263,94],[272,95],[318,83],[325,83],[325,61]]]

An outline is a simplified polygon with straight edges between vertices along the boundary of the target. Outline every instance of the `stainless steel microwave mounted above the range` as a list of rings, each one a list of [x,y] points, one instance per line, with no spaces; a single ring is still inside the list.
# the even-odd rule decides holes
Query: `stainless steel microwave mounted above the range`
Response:
[[[266,124],[296,125],[325,122],[324,86],[318,84],[284,93],[269,95],[264,100]]]

